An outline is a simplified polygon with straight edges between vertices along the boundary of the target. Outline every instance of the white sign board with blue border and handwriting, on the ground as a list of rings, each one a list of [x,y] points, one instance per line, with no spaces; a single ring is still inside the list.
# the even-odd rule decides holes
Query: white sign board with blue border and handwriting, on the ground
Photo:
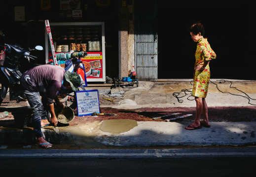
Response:
[[[100,113],[98,90],[76,92],[78,116],[88,116],[93,112]]]

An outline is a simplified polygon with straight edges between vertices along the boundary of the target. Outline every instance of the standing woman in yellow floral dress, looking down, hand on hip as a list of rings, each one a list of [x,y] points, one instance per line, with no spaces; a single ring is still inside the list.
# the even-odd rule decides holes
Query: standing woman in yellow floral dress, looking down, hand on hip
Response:
[[[191,95],[196,101],[196,116],[194,122],[185,127],[187,130],[195,130],[204,127],[210,127],[208,121],[208,107],[205,101],[210,81],[209,61],[216,59],[216,54],[212,50],[207,39],[203,37],[204,26],[201,23],[194,23],[189,28],[191,38],[198,42],[195,52],[194,66],[194,84]],[[200,121],[203,112],[203,120]]]

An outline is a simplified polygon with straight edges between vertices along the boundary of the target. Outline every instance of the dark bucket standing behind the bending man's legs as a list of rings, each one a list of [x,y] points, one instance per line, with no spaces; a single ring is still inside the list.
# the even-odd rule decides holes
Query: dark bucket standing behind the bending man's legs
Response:
[[[13,115],[16,126],[27,127],[30,125],[32,111],[19,110],[11,112]]]

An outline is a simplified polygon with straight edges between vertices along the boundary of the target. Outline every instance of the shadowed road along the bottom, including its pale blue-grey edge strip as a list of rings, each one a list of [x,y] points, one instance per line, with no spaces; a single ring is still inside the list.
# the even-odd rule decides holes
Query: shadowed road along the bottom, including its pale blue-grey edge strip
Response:
[[[245,177],[256,148],[0,150],[1,177]]]

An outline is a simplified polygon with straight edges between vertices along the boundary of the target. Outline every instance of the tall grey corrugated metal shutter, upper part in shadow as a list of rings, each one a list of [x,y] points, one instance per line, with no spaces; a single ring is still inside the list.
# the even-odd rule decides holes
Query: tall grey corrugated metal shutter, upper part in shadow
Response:
[[[157,0],[135,0],[134,13],[137,79],[157,81]]]

